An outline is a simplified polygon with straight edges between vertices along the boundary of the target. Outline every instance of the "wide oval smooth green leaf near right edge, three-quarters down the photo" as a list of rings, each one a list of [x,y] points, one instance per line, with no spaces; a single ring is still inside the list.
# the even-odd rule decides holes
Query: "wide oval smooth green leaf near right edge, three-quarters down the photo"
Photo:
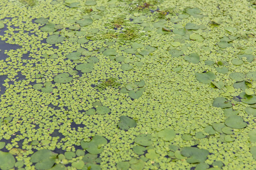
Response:
[[[228,119],[226,119],[225,125],[231,128],[241,129],[241,128],[245,128],[247,126],[247,123],[244,122],[243,118],[235,115],[235,116],[230,116]]]

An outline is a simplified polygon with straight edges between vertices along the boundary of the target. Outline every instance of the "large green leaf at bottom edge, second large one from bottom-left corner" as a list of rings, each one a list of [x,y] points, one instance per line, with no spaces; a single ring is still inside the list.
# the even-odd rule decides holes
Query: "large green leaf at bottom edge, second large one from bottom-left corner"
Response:
[[[36,163],[37,170],[47,170],[52,168],[57,155],[57,153],[47,149],[39,150],[31,155],[30,162]]]

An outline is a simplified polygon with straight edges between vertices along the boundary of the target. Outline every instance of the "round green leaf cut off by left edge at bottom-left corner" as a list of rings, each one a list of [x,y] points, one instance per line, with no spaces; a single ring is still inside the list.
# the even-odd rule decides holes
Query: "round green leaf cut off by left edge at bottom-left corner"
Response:
[[[15,165],[15,158],[10,153],[0,151],[0,169],[9,170]]]

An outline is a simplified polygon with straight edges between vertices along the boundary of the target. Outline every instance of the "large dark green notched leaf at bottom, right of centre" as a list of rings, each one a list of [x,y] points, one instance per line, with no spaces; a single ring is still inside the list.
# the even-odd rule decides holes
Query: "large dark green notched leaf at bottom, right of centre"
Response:
[[[209,155],[209,151],[206,149],[199,149],[196,147],[184,147],[181,150],[181,154],[187,158],[188,163],[201,163],[204,162]]]

